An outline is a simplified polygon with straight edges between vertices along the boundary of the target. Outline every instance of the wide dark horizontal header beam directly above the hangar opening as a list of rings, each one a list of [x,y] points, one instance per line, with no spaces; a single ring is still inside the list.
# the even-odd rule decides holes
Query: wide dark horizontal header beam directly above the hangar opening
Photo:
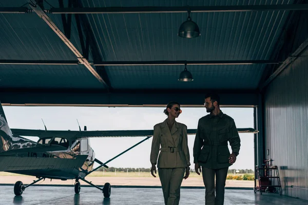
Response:
[[[25,89],[1,88],[1,103],[26,106],[105,106],[105,107],[164,107],[168,101],[181,106],[203,107],[207,92],[219,93],[224,107],[252,107],[258,105],[256,90],[207,89]],[[180,93],[180,94],[179,94]]]

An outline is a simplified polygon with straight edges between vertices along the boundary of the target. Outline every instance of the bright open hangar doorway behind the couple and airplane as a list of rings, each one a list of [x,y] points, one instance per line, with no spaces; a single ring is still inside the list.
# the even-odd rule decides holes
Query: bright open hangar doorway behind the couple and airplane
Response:
[[[187,125],[188,129],[196,129],[199,118],[206,115],[205,108],[181,108],[182,113],[177,119]],[[44,130],[46,126],[47,130],[71,130],[78,131],[78,127],[87,127],[88,131],[95,130],[151,130],[155,124],[162,122],[166,119],[166,115],[162,112],[163,107],[159,108],[106,108],[106,107],[25,107],[25,106],[8,106],[4,107],[6,117],[9,122],[10,128],[18,129],[34,129]],[[234,116],[236,125],[238,128],[250,128],[254,127],[254,109],[253,108],[222,108],[222,111],[229,116]],[[44,120],[44,124],[43,121]],[[76,121],[78,119],[78,121]],[[241,138],[241,155],[239,155],[237,162],[229,167],[226,187],[232,188],[254,188],[254,168],[255,168],[255,145],[254,145],[254,133],[240,133]],[[38,137],[27,137],[34,141],[38,141],[43,145],[49,143],[52,137],[44,137],[38,140]],[[65,136],[64,136],[65,137]],[[56,140],[58,139],[58,140]],[[56,137],[52,139],[57,142],[58,145],[64,145],[65,138]],[[89,138],[90,146],[95,152],[95,158],[101,161],[107,161],[113,156],[117,156],[122,151],[137,144],[143,138],[141,137],[94,137]],[[191,163],[191,175],[193,179],[187,180],[187,183],[183,183],[183,187],[203,187],[202,177],[198,176],[194,172],[194,158],[192,151],[194,147],[195,135],[188,135],[188,147],[190,150],[190,163]],[[59,141],[59,142],[58,142]],[[55,144],[50,142],[51,144]],[[119,158],[108,163],[110,169],[100,168],[92,175],[103,177],[105,181],[108,181],[113,186],[159,186],[159,180],[152,178],[150,175],[150,149],[152,139],[144,141],[136,148],[131,149],[127,153],[123,154]],[[74,144],[72,142],[72,144]],[[67,142],[67,148],[69,143]],[[73,146],[77,147],[77,145]],[[81,141],[80,149],[83,148]],[[229,146],[230,152],[232,152]],[[98,164],[94,165],[98,167]],[[120,170],[119,170],[120,168]],[[115,171],[117,169],[117,171]],[[140,172],[141,169],[141,172]],[[118,174],[118,175],[117,175]],[[6,175],[6,174],[5,174]],[[90,175],[90,176],[92,176]],[[105,176],[105,177],[104,177]],[[121,181],[117,177],[121,176]],[[134,178],[129,177],[146,177]],[[15,179],[13,179],[15,180]],[[28,180],[28,179],[27,179]],[[110,181],[111,180],[111,181]],[[139,180],[139,181],[138,181]],[[91,178],[93,183],[95,177]],[[15,181],[10,181],[14,183]],[[98,181],[101,182],[101,181]],[[8,181],[7,181],[8,183]],[[46,182],[50,185],[51,182]],[[63,184],[71,184],[71,181],[63,181]]]

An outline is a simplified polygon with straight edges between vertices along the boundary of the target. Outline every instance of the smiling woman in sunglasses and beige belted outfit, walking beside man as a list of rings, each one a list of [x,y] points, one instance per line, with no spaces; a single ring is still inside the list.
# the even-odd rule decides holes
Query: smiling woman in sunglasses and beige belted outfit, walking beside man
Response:
[[[187,127],[176,121],[182,113],[180,104],[175,101],[168,103],[164,113],[168,118],[154,126],[150,161],[151,174],[156,177],[158,157],[158,173],[163,188],[165,204],[179,204],[180,187],[189,176],[189,150],[187,145]],[[161,148],[160,148],[161,146]]]

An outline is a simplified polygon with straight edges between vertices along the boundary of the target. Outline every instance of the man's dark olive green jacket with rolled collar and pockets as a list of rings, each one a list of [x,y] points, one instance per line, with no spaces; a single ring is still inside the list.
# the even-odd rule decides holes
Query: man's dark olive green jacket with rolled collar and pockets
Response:
[[[194,163],[209,169],[231,166],[228,141],[232,152],[238,155],[241,140],[232,117],[221,111],[217,116],[208,114],[200,118],[194,143]]]

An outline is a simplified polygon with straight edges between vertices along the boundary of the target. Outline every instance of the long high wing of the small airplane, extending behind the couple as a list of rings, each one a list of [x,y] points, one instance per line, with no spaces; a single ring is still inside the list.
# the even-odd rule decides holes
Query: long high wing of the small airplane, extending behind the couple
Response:
[[[253,128],[238,128],[239,133],[258,133]],[[11,129],[14,134],[20,136],[36,136],[44,137],[65,137],[65,138],[87,138],[87,137],[144,137],[152,136],[153,130],[105,130],[105,131],[65,131],[65,130],[27,130],[27,129]],[[196,129],[188,129],[188,135],[195,135]]]

